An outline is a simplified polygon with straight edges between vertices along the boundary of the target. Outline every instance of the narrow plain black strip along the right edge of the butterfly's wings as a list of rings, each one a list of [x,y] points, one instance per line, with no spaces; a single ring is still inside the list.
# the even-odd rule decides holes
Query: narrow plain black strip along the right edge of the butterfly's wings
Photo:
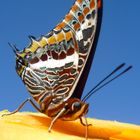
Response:
[[[93,24],[93,28],[94,28],[93,33],[94,34],[93,34],[93,36],[91,36],[91,40],[92,40],[91,41],[92,42],[91,50],[89,52],[89,56],[87,58],[85,67],[83,68],[83,71],[81,73],[81,77],[79,79],[79,81],[82,81],[82,82],[77,83],[77,86],[76,86],[74,93],[72,95],[72,97],[76,97],[79,99],[82,96],[82,92],[83,92],[84,86],[86,84],[86,80],[87,80],[87,77],[88,77],[88,74],[90,71],[90,67],[91,67],[92,60],[94,58],[94,54],[96,51],[96,46],[98,43],[98,38],[99,38],[99,33],[100,33],[101,23],[102,23],[102,11],[103,11],[103,1],[102,0],[97,1],[97,5],[96,5],[95,9],[96,9],[95,10],[96,12],[94,10],[92,12],[93,17],[94,17],[94,14],[96,14],[96,19],[95,19],[95,23]],[[93,22],[94,22],[94,20],[93,20]],[[87,28],[87,30],[88,30],[88,28]],[[86,35],[86,33],[84,33],[84,32],[83,32],[83,34]],[[88,34],[88,31],[87,31],[87,34]]]

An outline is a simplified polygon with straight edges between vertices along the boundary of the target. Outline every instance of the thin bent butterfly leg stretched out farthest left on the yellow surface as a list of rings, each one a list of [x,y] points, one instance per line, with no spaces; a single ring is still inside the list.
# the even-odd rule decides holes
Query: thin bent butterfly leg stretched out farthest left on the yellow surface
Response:
[[[37,111],[41,112],[41,110],[34,104],[34,102],[33,102],[30,98],[28,98],[28,99],[26,99],[15,111],[13,111],[13,112],[11,112],[11,113],[8,113],[8,114],[3,114],[2,117],[3,117],[3,116],[12,115],[12,114],[15,114],[15,113],[19,112],[20,109],[23,108],[23,106],[24,106],[27,102],[30,102],[31,105],[32,105]]]

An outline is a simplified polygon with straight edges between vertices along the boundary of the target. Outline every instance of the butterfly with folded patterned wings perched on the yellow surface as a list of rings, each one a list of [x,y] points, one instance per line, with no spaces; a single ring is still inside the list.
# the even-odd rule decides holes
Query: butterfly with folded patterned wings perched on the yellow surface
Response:
[[[29,101],[53,118],[49,131],[57,119],[80,119],[84,125],[89,104],[81,96],[98,42],[102,7],[102,0],[76,0],[47,35],[29,36],[31,43],[22,51],[13,47],[17,74],[39,107],[29,98],[11,114]]]

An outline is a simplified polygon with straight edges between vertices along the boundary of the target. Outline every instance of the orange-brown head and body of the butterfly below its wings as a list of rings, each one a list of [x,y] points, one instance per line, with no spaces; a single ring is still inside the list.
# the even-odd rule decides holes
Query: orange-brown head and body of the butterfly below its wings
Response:
[[[57,116],[57,114],[64,109],[65,111],[59,116],[59,118],[67,121],[76,120],[86,115],[89,106],[77,98],[70,98],[67,101],[57,104],[51,108],[49,108],[48,103],[51,104],[51,98],[47,99],[40,105],[42,113],[52,118]]]

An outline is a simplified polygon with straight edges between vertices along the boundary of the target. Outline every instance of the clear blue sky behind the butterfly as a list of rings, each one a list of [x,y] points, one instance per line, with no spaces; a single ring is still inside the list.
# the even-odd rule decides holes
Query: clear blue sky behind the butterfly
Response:
[[[0,110],[13,111],[29,94],[15,71],[8,46],[20,50],[28,35],[48,33],[69,11],[74,0],[0,1]],[[133,69],[94,94],[88,117],[140,125],[140,0],[104,0],[101,34],[84,95],[122,62]],[[35,111],[28,103],[22,111]]]

